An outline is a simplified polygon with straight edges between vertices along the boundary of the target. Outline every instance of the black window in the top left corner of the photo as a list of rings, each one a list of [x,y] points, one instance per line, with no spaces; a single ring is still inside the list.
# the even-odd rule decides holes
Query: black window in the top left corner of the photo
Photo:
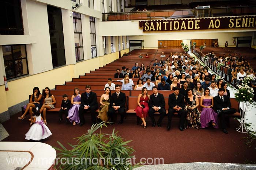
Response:
[[[1,35],[24,35],[20,0],[1,0]]]

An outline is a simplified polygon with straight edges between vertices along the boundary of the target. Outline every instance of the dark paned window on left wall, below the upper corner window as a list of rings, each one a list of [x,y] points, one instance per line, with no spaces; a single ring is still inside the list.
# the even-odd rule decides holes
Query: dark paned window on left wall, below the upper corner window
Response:
[[[6,78],[29,74],[26,45],[2,46]]]

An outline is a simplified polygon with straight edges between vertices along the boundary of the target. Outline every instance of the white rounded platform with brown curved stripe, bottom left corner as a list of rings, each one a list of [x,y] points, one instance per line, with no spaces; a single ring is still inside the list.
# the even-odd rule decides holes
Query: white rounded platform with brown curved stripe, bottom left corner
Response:
[[[0,169],[48,170],[56,158],[56,151],[40,142],[0,142]]]

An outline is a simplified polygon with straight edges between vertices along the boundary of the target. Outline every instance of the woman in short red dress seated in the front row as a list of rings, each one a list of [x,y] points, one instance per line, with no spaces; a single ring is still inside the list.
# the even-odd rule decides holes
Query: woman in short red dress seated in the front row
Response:
[[[147,94],[147,88],[143,87],[142,88],[142,93],[139,94],[138,96],[138,106],[135,109],[136,115],[138,117],[140,117],[140,119],[142,120],[142,126],[143,128],[147,127],[147,123],[146,123],[146,117],[148,116],[148,101],[149,101],[149,95]]]

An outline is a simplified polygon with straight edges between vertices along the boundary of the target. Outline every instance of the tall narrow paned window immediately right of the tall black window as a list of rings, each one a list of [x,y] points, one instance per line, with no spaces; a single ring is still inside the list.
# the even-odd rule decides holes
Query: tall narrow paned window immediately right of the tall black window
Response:
[[[81,14],[73,12],[73,26],[75,36],[76,61],[83,60],[83,39]]]

